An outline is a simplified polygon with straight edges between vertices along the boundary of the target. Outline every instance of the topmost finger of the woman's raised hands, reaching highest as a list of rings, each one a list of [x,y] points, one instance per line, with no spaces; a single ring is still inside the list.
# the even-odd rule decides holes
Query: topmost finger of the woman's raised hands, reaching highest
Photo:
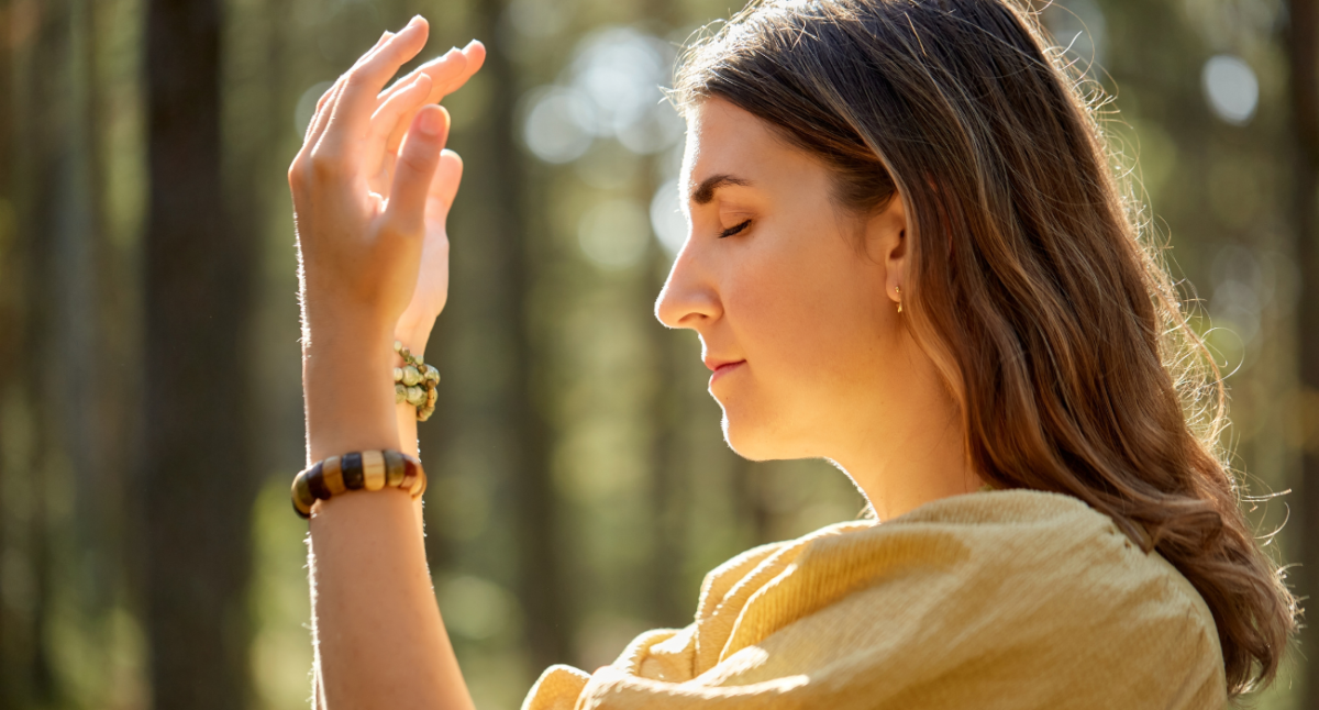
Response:
[[[334,132],[334,145],[327,146],[331,153],[351,148],[353,139],[365,137],[371,113],[376,110],[376,95],[384,88],[385,82],[398,73],[404,62],[421,51],[426,45],[427,32],[426,21],[421,16],[413,17],[406,28],[348,71],[331,115],[331,124],[342,127]]]

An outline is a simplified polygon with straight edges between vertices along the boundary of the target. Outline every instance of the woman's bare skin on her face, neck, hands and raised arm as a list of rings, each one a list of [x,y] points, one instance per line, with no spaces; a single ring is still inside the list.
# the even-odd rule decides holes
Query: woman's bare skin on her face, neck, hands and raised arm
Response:
[[[445,219],[462,161],[435,102],[481,65],[472,42],[386,83],[426,44],[385,33],[326,92],[289,168],[301,259],[307,461],[417,451],[396,405],[392,344],[423,352],[448,289]],[[835,214],[828,173],[758,119],[708,100],[689,115],[691,232],[657,304],[700,335],[729,445],[748,458],[826,457],[881,517],[973,491],[955,406],[897,314],[901,201]],[[749,222],[748,222],[749,220]],[[720,231],[745,223],[741,232]],[[318,501],[310,523],[315,705],[471,709],[435,603],[421,503],[400,490]]]

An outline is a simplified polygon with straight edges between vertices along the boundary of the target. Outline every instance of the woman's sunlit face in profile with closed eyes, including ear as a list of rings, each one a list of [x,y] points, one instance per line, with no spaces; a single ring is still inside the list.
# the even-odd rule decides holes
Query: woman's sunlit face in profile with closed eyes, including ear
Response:
[[[700,335],[724,437],[757,461],[873,445],[905,401],[901,199],[834,207],[823,164],[721,99],[687,116],[687,240],[656,315]]]

